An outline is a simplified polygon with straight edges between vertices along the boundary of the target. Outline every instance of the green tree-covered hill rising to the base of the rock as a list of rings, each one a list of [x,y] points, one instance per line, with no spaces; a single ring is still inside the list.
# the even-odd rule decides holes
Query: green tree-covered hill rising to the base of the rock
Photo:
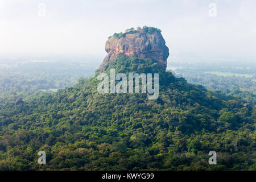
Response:
[[[159,73],[159,97],[100,94],[96,75],[71,88],[1,100],[2,170],[255,170],[256,108],[119,55],[104,73]],[[38,164],[38,151],[47,164]],[[208,152],[217,152],[209,165]]]

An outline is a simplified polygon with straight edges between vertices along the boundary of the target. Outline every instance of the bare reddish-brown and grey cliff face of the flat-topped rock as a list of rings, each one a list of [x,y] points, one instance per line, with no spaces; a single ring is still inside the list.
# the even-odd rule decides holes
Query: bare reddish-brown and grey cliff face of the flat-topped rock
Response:
[[[104,65],[114,61],[120,53],[128,57],[150,58],[158,62],[164,70],[166,70],[167,57],[169,56],[166,42],[160,31],[157,30],[148,33],[142,29],[125,34],[121,38],[110,38],[106,41],[105,50],[108,55],[99,67],[103,71],[105,70]]]

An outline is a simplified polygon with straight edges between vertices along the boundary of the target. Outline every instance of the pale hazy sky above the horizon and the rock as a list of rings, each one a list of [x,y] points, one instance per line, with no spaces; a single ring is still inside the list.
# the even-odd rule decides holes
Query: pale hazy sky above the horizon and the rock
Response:
[[[145,25],[170,59],[256,60],[255,0],[0,0],[0,55],[105,55],[108,36]]]

